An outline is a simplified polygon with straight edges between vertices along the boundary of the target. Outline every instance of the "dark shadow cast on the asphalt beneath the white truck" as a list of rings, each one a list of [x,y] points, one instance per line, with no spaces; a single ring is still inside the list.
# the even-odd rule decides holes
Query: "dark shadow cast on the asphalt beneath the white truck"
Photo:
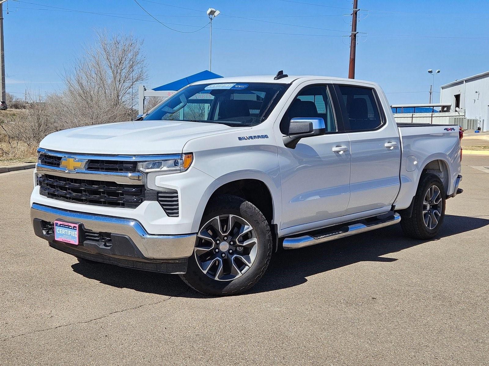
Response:
[[[283,250],[272,256],[264,277],[248,293],[260,293],[301,285],[307,277],[357,262],[395,262],[385,257],[416,245],[461,234],[489,225],[488,219],[446,215],[442,230],[432,240],[403,236],[400,225],[358,234],[302,249]],[[122,268],[111,264],[72,265],[76,273],[102,284],[163,296],[204,298],[178,276]]]

